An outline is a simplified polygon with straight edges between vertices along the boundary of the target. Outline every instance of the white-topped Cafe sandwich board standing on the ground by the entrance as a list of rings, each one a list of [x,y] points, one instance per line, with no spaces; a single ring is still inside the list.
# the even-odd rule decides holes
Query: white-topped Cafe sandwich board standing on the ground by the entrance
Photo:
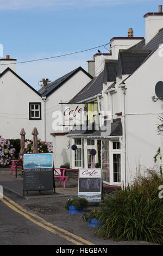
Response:
[[[90,202],[101,202],[102,199],[102,170],[79,169],[78,196]]]

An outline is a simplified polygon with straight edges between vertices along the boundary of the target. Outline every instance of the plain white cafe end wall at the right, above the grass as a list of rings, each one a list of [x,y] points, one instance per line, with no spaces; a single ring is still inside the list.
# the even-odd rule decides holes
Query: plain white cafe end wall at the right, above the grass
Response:
[[[159,50],[158,50],[159,51]],[[136,168],[153,167],[154,155],[160,146],[156,129],[163,101],[153,102],[155,84],[163,81],[162,62],[156,51],[132,76],[126,80],[126,164],[128,180]],[[155,68],[153,66],[155,65]]]

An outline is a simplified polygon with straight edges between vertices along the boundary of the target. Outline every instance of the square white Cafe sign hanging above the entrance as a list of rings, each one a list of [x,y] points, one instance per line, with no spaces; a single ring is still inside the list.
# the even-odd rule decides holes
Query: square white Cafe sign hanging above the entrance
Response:
[[[84,106],[82,104],[63,104],[62,118],[64,125],[84,124]]]

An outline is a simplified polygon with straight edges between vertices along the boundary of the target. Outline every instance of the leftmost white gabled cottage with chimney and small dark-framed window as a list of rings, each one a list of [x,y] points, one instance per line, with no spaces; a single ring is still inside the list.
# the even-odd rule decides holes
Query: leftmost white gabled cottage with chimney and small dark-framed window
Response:
[[[37,127],[43,137],[42,99],[32,86],[16,74],[16,59],[9,55],[1,59],[0,75],[0,135],[4,138],[20,138],[24,127],[26,137],[32,138]]]

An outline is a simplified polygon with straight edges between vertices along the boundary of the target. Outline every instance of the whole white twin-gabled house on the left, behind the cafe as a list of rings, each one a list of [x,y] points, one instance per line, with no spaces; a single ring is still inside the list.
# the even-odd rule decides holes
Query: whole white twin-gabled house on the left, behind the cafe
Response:
[[[67,138],[63,131],[53,129],[53,113],[61,111],[59,103],[70,101],[92,78],[79,67],[54,82],[43,79],[37,92],[17,75],[16,59],[7,55],[1,59],[0,135],[7,139],[20,138],[21,128],[24,127],[26,138],[31,139],[33,128],[37,127],[42,141],[54,142],[55,166],[69,162],[69,154],[62,149],[67,145]]]

